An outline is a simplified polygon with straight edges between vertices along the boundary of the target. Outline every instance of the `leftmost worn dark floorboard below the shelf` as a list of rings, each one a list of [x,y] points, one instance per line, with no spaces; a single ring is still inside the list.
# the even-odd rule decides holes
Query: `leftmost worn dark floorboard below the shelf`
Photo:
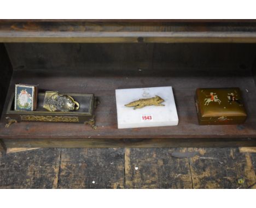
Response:
[[[0,157],[0,188],[57,188],[59,149],[38,149]]]

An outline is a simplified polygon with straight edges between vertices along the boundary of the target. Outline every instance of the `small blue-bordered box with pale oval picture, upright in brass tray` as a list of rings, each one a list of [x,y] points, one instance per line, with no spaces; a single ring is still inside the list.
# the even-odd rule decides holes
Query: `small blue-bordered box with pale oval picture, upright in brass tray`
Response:
[[[37,108],[37,85],[15,84],[15,111],[34,111]]]

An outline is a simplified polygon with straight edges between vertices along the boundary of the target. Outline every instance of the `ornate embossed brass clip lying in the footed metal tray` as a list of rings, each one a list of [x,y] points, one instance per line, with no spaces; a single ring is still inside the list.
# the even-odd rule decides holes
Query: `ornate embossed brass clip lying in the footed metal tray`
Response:
[[[74,101],[73,97],[61,95],[58,91],[46,91],[43,107],[51,112],[69,112],[77,111],[79,109],[79,103]]]

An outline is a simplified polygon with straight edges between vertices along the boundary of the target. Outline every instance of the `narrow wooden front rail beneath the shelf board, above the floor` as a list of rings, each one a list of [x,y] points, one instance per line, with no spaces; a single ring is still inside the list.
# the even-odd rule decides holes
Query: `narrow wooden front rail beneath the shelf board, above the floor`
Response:
[[[7,148],[173,148],[255,146],[256,139],[241,138],[84,138],[84,139],[3,139]]]

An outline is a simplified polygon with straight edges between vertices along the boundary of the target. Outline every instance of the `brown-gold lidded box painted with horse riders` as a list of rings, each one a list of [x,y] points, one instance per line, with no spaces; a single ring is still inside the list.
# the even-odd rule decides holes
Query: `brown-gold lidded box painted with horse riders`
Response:
[[[247,118],[239,88],[200,88],[195,102],[200,125],[242,124]]]

